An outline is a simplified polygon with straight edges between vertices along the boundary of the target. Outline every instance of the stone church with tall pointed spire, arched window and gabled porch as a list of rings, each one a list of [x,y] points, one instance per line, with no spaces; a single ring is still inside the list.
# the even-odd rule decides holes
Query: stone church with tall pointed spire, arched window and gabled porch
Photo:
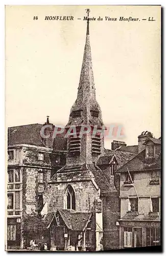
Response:
[[[117,152],[118,158],[123,156],[121,165],[113,151],[106,156],[102,112],[94,87],[89,20],[78,95],[65,133],[71,132],[73,127],[76,136],[67,137],[66,164],[51,178],[44,194],[43,218],[47,222],[52,216],[48,224],[51,246],[63,250],[117,249],[120,179],[115,171],[135,154]],[[82,136],[89,127],[90,132]],[[98,132],[94,135],[95,129]]]

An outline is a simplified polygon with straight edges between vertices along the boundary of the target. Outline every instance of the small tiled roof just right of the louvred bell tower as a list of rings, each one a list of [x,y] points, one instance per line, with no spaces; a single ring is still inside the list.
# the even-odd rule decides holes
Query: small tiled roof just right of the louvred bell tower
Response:
[[[105,151],[108,152],[108,151]],[[115,156],[117,160],[117,169],[121,168],[125,163],[135,157],[135,154],[123,151],[109,151],[109,155],[105,155],[99,158],[98,165],[100,164],[109,164],[112,157]]]

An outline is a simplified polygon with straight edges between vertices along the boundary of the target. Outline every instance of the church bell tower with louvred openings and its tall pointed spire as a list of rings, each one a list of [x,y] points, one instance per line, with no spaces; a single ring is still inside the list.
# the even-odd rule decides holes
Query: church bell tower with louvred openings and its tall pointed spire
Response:
[[[86,9],[86,12],[86,41],[78,94],[70,110],[68,123],[65,126],[66,133],[76,133],[76,135],[67,136],[67,165],[74,163],[76,165],[92,164],[104,155],[104,124],[102,112],[96,100],[90,49],[90,10]]]

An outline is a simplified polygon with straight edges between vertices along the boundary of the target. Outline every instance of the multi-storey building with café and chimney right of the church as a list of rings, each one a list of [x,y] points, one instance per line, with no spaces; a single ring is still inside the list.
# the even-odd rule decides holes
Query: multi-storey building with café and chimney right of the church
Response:
[[[138,152],[121,175],[120,248],[160,245],[161,140],[138,136]]]

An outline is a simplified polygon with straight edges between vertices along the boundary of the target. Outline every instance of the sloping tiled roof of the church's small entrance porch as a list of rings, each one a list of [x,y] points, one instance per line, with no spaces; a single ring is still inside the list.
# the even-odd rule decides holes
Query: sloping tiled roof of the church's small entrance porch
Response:
[[[91,218],[91,212],[78,212],[72,210],[58,210],[68,229],[84,230]]]

